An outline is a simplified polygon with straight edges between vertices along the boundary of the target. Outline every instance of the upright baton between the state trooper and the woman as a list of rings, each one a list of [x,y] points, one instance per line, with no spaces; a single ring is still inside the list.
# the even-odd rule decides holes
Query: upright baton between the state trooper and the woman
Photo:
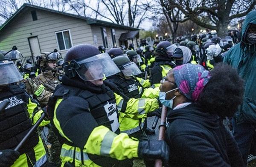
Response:
[[[167,115],[167,107],[163,105],[162,113],[161,113],[161,124],[159,125],[159,136],[158,140],[164,140],[165,130],[166,130],[166,115]],[[162,167],[163,162],[161,159],[156,159],[155,167]]]

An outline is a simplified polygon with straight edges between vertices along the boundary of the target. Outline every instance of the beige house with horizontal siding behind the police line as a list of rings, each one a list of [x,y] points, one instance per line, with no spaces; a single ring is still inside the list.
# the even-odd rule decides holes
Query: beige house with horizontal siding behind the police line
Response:
[[[17,46],[24,57],[36,57],[43,52],[67,50],[81,43],[111,49],[125,44],[137,46],[139,29],[76,14],[23,4],[0,26],[0,50]]]

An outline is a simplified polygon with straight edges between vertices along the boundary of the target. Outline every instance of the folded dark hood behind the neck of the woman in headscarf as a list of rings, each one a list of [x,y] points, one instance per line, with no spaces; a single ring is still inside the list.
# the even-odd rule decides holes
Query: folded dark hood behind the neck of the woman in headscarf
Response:
[[[189,104],[184,108],[174,109],[168,112],[167,122],[171,123],[177,119],[193,121],[211,129],[219,128],[219,117],[208,112],[202,112],[201,109],[194,103]]]

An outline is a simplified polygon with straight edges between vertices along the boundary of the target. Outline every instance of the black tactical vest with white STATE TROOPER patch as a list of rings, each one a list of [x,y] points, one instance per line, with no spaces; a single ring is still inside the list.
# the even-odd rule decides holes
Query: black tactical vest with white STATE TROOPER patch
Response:
[[[89,103],[90,113],[92,114],[93,118],[95,118],[95,120],[99,124],[99,126],[103,125],[113,131],[113,129],[111,127],[111,124],[113,123],[113,121],[109,121],[108,114],[113,114],[113,112],[116,112],[117,121],[118,121],[117,109],[116,108],[112,109],[110,107],[111,109],[109,109],[108,114],[105,110],[105,108],[108,104],[116,104],[115,95],[110,88],[107,88],[107,91],[104,93],[96,94],[96,93],[90,92],[88,90],[83,90],[83,89],[76,88],[73,86],[66,86],[66,85],[59,84],[56,87],[53,96],[49,99],[48,108],[47,108],[47,110],[49,112],[48,114],[51,118],[52,125],[54,125],[53,124],[53,115],[54,115],[55,102],[57,101],[58,98],[65,99],[70,96],[78,96],[78,97],[84,98]],[[54,132],[56,132],[56,134],[58,134],[58,138],[61,143],[65,143],[65,144],[68,144],[73,147],[78,147],[75,144],[71,143],[70,141],[67,141],[66,138],[62,137],[58,133],[58,130],[56,129],[56,127],[54,127],[53,129],[54,129]],[[119,128],[117,130],[115,130],[115,133],[116,134],[120,133]],[[80,148],[80,149],[83,150],[83,148]],[[82,154],[82,152],[81,152],[81,154]],[[115,164],[117,162],[116,159],[109,158],[109,157],[102,157],[99,155],[92,155],[92,154],[88,154],[88,156],[94,163],[96,163],[100,166],[105,166],[108,163]],[[106,162],[108,162],[108,163],[106,163]]]

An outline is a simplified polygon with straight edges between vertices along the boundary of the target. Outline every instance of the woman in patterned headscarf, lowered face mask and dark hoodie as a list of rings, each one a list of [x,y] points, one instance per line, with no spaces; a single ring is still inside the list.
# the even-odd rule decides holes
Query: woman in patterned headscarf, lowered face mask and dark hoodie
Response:
[[[162,80],[160,91],[160,101],[169,108],[170,166],[244,167],[236,141],[222,124],[242,101],[243,81],[235,69],[177,66]]]

